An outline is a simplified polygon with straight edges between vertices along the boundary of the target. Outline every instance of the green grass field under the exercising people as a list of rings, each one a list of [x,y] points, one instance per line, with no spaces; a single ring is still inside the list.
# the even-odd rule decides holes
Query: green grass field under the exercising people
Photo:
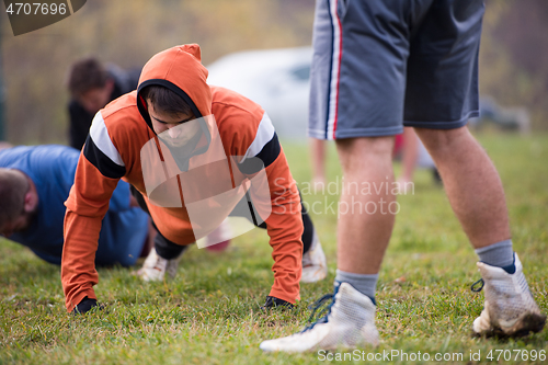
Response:
[[[489,135],[480,140],[501,173],[514,248],[546,313],[548,136]],[[284,148],[295,179],[306,187],[304,182],[310,179],[308,148],[296,144]],[[335,180],[339,171],[332,148],[330,178]],[[316,212],[338,199],[304,195],[308,204],[320,202]],[[547,329],[522,340],[470,337],[471,323],[483,305],[483,294],[469,289],[480,277],[476,255],[443,189],[433,184],[429,172],[418,171],[414,195],[398,201],[401,212],[378,283],[381,343],[377,349],[359,350],[365,361],[354,353],[347,363],[365,363],[367,354],[379,360],[373,363],[388,363],[381,355],[390,351],[406,353],[409,362],[402,363],[421,363],[412,361],[419,352],[420,358],[424,353],[460,353],[461,357],[445,362],[455,364],[478,363],[478,352],[479,363],[548,363],[538,357],[541,351],[548,352]],[[0,364],[320,363],[327,354],[266,354],[259,350],[262,340],[300,330],[310,313],[307,306],[332,290],[336,215],[328,209],[313,219],[328,256],[329,276],[301,286],[302,300],[295,311],[260,310],[273,276],[267,236],[259,229],[235,239],[219,254],[192,248],[182,259],[175,281],[144,284],[129,269],[101,269],[95,290],[107,310],[81,317],[66,313],[59,267],[0,240]],[[487,357],[490,351],[492,360]],[[525,354],[530,356],[534,351],[537,360],[525,361]],[[475,354],[472,358],[470,354]],[[334,357],[333,363],[341,362]]]

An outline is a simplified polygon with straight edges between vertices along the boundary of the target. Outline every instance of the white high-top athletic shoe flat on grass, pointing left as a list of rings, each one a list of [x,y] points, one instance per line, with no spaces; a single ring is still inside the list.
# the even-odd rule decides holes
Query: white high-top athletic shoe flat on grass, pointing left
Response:
[[[376,308],[369,297],[349,283],[335,283],[334,293],[319,299],[315,311],[329,299],[332,301],[324,317],[299,333],[264,341],[260,347],[263,351],[304,352],[378,344]]]

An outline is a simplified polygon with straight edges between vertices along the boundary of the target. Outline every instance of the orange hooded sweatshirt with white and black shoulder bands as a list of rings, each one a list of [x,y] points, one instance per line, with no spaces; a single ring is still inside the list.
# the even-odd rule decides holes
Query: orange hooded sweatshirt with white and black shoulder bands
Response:
[[[75,185],[65,203],[61,282],[68,311],[84,297],[96,299],[93,290],[98,283],[94,256],[101,220],[119,179],[134,185],[145,196],[150,215],[165,238],[178,244],[190,244],[199,238],[186,206],[195,201],[195,196],[189,195],[189,190],[182,186],[185,176],[198,170],[203,182],[222,180],[219,179],[220,161],[201,168],[201,159],[215,146],[221,146],[227,160],[224,166],[230,171],[229,187],[232,189],[258,175],[253,158],[262,161],[271,201],[271,214],[265,219],[274,259],[274,284],[270,295],[293,304],[299,299],[302,256],[300,197],[284,151],[261,106],[230,90],[209,87],[206,79],[207,70],[201,64],[198,45],[173,47],[147,62],[137,91],[118,98],[95,115],[80,155]],[[147,156],[144,152],[147,148],[161,145],[151,127],[147,104],[139,94],[150,84],[164,85],[176,92],[191,105],[196,117],[213,123],[201,122],[202,136],[190,158],[187,171],[181,170],[171,176],[179,186],[175,191],[180,203],[174,206],[161,206],[152,195],[147,194],[151,192],[147,182],[156,175],[150,175],[152,170],[147,168],[150,161],[147,157],[144,160],[141,153]],[[210,115],[214,117],[208,117]],[[151,145],[151,140],[156,145]],[[161,163],[169,162],[169,157],[162,155],[160,147],[153,149]],[[224,208],[227,210],[222,206],[215,207],[215,204],[209,206],[217,208],[217,215]]]

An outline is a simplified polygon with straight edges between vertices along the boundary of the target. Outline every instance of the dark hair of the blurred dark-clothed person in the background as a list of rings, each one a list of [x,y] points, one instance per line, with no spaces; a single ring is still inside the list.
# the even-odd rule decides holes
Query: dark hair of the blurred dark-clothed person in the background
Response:
[[[111,78],[103,65],[95,58],[84,58],[70,67],[68,88],[72,98],[92,89],[104,88]]]

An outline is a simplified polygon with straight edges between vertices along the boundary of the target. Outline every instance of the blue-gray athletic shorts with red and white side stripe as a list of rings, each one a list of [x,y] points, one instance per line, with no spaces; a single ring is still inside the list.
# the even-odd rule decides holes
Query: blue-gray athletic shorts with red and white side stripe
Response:
[[[479,115],[483,0],[317,0],[309,136],[452,129]]]

